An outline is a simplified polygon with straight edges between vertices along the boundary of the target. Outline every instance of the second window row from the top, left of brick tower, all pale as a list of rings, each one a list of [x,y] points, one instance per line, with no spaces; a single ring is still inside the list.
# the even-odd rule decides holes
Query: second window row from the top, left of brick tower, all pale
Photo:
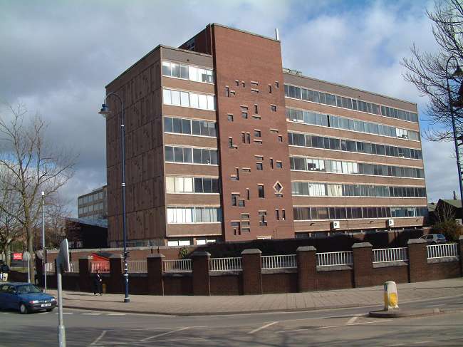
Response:
[[[215,110],[214,95],[164,88],[162,89],[162,98],[165,105]]]

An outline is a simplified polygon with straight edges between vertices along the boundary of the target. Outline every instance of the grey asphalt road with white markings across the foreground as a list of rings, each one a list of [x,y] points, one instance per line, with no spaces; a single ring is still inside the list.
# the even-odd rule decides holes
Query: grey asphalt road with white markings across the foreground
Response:
[[[67,346],[462,346],[463,296],[403,304],[448,314],[368,318],[378,307],[230,316],[64,310]],[[57,311],[0,311],[0,346],[56,346]]]

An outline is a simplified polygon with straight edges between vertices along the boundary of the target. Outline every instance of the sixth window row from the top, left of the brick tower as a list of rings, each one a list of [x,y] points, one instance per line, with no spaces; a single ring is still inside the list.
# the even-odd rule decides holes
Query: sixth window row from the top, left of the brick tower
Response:
[[[220,207],[167,207],[168,224],[222,222]]]

